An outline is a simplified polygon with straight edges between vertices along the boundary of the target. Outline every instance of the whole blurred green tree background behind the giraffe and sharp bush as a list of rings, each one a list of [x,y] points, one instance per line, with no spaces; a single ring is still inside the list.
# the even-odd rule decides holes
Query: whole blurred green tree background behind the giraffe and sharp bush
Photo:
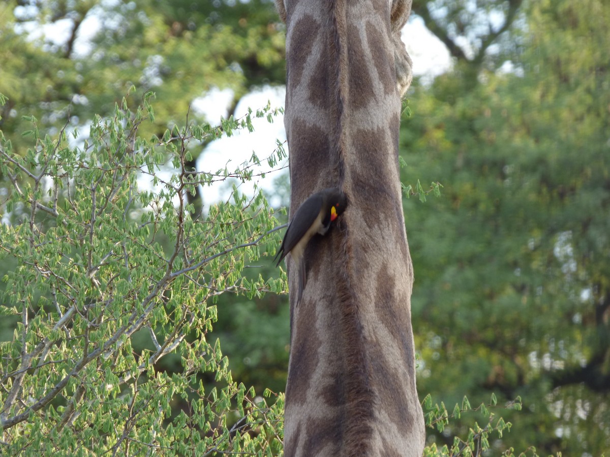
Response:
[[[608,24],[603,0],[414,0],[403,35],[415,69],[439,43],[447,56],[415,77],[401,129],[403,181],[443,185],[404,200],[418,392],[448,409],[520,395],[522,411],[498,412],[513,423],[498,447],[610,449]],[[284,85],[284,33],[264,0],[2,2],[0,129],[25,154],[21,116],[56,135],[68,112],[73,127],[112,113],[132,84],[156,93],[145,136],[183,124],[210,91],[230,94],[223,116],[239,115],[244,96]],[[287,177],[269,182],[287,205]],[[9,185],[0,175],[3,223]],[[201,190],[192,200],[205,211]],[[248,272],[260,269],[273,266]],[[0,323],[3,341],[13,325]],[[284,389],[286,296],[220,297],[214,335],[235,380]],[[450,444],[469,423],[428,440]]]

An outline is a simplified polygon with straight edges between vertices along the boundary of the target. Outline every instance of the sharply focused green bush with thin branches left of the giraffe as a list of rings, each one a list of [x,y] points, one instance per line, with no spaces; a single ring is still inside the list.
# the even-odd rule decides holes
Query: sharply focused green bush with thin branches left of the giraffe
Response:
[[[24,157],[0,136],[0,171],[13,183],[0,255],[16,260],[0,310],[17,318],[12,341],[0,344],[3,453],[281,448],[283,397],[267,406],[236,383],[218,340],[206,338],[220,294],[286,288],[285,276],[242,275],[260,243],[278,241],[273,210],[260,191],[234,188],[193,220],[185,199],[215,179],[249,179],[248,168],[195,174],[182,164],[191,142],[246,128],[250,115],[148,141],[138,132],[154,119],[149,97],[134,112],[125,99],[112,117],[97,116],[85,140],[43,136],[30,117]],[[282,157],[278,149],[270,160]],[[168,163],[176,172],[163,180]],[[163,358],[180,369],[159,369]]]

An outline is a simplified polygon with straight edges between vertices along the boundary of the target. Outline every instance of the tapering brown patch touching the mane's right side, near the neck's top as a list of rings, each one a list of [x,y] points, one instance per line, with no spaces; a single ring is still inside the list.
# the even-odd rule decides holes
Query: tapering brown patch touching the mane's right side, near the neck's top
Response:
[[[370,105],[375,98],[373,80],[369,73],[369,63],[365,59],[359,27],[356,24],[349,24],[347,32],[350,108],[362,109]]]

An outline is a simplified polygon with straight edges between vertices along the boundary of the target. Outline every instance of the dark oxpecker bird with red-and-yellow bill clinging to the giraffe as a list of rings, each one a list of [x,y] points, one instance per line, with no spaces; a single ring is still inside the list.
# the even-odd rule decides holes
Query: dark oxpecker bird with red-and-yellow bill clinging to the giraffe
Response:
[[[307,281],[304,252],[307,243],[316,233],[325,235],[331,222],[337,219],[347,207],[347,197],[338,188],[332,187],[313,194],[301,204],[288,225],[282,246],[279,247],[278,263],[290,252],[298,269],[299,289],[296,303],[301,301]]]

